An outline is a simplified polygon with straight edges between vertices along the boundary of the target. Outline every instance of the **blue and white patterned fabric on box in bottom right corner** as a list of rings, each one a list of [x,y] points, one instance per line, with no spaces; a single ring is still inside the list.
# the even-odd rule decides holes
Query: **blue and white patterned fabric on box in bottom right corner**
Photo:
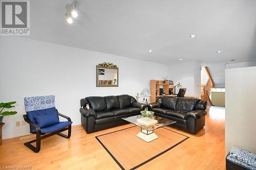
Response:
[[[256,170],[256,155],[253,153],[232,147],[227,155],[227,159],[249,169]]]

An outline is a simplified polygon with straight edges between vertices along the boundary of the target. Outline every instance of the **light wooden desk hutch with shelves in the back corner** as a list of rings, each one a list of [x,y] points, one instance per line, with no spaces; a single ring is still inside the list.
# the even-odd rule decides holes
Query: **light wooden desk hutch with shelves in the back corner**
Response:
[[[150,102],[156,102],[157,98],[160,95],[160,87],[162,86],[164,92],[166,95],[169,94],[169,89],[174,88],[173,84],[169,84],[169,82],[164,82],[163,80],[150,80],[150,92],[151,92],[151,97],[150,97]],[[173,90],[172,90],[173,92]]]

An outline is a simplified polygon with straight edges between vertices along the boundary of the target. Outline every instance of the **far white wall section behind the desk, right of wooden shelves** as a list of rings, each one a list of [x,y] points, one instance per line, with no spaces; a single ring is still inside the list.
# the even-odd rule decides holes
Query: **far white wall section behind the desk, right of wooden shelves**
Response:
[[[180,83],[186,88],[185,95],[195,95],[201,98],[201,70],[199,62],[187,62],[169,67],[169,80],[174,81],[174,85]],[[176,89],[176,93],[178,90]]]

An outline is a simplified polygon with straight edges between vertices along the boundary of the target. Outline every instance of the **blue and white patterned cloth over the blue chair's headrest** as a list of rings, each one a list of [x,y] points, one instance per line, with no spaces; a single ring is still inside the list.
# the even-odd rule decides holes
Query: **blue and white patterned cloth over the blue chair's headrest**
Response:
[[[25,101],[25,110],[27,112],[55,107],[54,95],[26,97],[24,98],[24,101]]]

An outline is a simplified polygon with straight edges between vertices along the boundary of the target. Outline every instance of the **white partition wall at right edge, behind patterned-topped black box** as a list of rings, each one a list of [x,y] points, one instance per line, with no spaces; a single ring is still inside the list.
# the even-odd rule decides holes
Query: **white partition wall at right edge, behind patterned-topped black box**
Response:
[[[256,67],[226,69],[225,75],[226,153],[231,147],[256,153]]]

